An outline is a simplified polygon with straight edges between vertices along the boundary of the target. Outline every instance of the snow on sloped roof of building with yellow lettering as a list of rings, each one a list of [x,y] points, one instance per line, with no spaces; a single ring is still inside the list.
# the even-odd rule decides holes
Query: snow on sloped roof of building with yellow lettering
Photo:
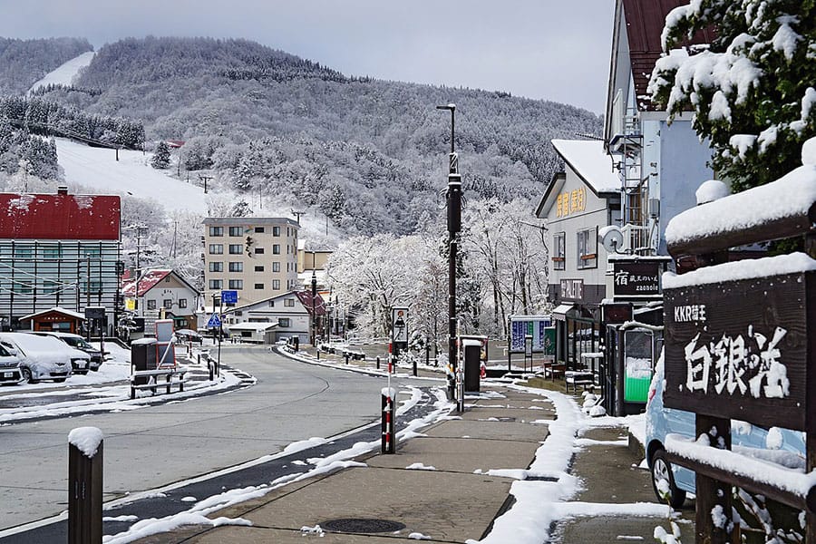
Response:
[[[612,168],[612,157],[604,151],[603,141],[553,140],[552,146],[596,193],[620,190],[620,178]]]

